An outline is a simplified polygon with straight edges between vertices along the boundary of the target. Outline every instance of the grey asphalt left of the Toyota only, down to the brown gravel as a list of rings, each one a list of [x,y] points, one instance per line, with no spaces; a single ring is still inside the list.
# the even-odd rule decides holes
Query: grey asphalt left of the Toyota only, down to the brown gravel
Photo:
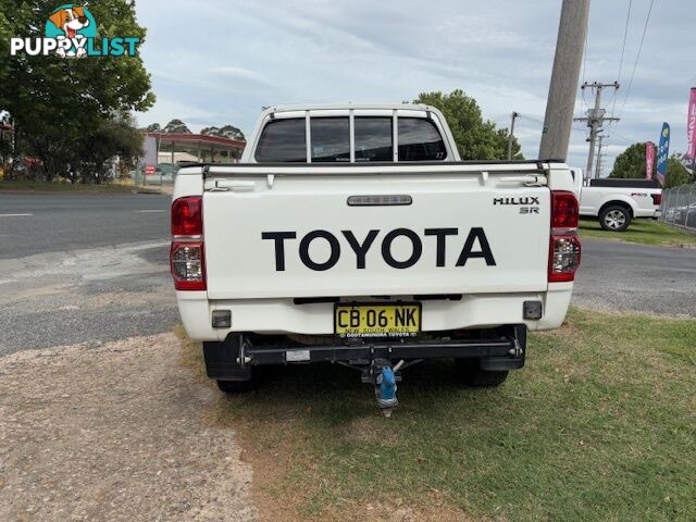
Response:
[[[0,192],[0,356],[171,332],[171,197]]]

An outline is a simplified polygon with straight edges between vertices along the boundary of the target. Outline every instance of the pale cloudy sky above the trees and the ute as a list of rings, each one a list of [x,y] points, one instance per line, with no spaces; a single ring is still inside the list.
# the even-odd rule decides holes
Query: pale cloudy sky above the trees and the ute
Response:
[[[249,134],[264,105],[400,102],[461,88],[500,127],[509,127],[512,111],[521,113],[515,136],[525,158],[537,157],[560,0],[139,0],[136,5],[148,30],[140,52],[158,98],[137,114],[140,125],[178,117],[192,132],[232,124]],[[602,92],[607,112],[621,117],[604,133],[604,176],[629,145],[657,141],[662,122],[672,127],[671,150],[686,149],[688,90],[696,87],[694,20],[693,0],[592,2],[580,83],[621,84],[616,92]],[[582,92],[576,116],[594,104],[592,90]],[[571,165],[585,166],[586,138],[585,124],[575,123]]]

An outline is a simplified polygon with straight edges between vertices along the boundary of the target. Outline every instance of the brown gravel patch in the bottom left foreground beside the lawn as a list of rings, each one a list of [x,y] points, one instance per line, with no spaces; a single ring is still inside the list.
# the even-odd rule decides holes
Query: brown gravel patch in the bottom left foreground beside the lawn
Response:
[[[249,521],[251,469],[172,334],[0,359],[0,520]]]

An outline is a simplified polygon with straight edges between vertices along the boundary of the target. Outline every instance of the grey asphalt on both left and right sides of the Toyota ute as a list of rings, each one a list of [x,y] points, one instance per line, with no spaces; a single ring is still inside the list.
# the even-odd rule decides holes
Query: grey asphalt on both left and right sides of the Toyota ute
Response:
[[[0,192],[0,356],[170,332],[170,200]],[[696,318],[696,250],[585,239],[573,303]]]

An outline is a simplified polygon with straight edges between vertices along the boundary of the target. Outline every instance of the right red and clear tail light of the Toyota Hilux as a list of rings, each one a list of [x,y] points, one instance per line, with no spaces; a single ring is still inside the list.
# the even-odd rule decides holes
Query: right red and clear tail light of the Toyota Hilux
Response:
[[[548,252],[548,281],[575,279],[581,246],[577,237],[577,198],[566,190],[551,191],[551,237]]]

